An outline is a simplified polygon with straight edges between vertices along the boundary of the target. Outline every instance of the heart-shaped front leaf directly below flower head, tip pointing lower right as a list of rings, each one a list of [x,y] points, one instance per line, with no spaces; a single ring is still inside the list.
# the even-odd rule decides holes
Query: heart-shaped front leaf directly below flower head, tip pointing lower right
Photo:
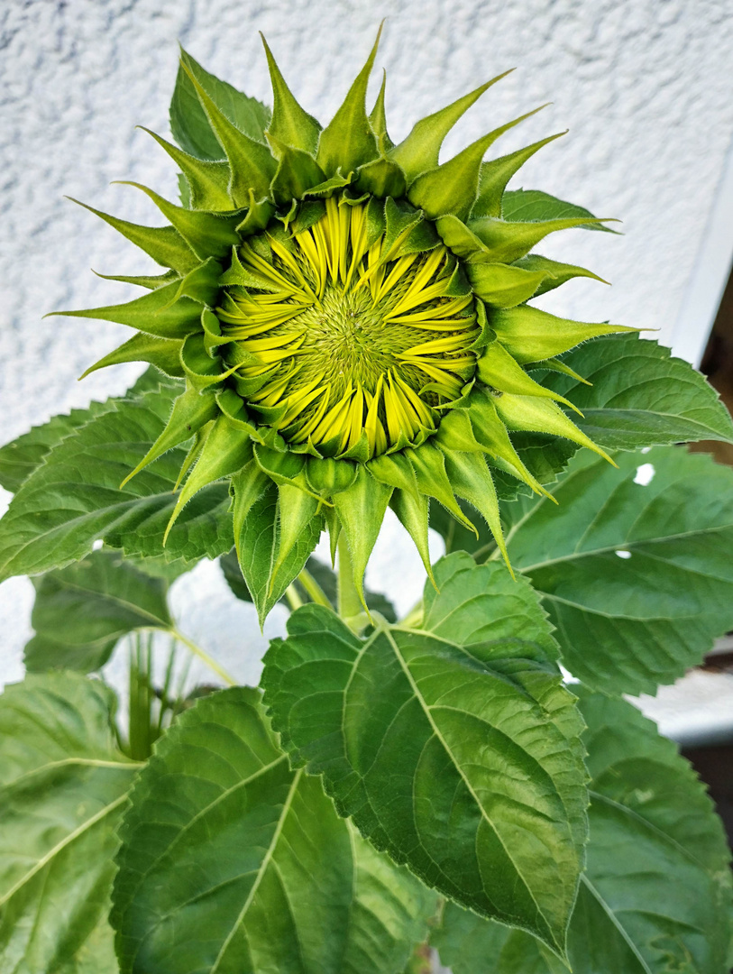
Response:
[[[421,880],[562,954],[586,838],[579,732],[534,593],[458,552],[420,630],[356,638],[328,609],[265,657],[275,730],[360,831]]]

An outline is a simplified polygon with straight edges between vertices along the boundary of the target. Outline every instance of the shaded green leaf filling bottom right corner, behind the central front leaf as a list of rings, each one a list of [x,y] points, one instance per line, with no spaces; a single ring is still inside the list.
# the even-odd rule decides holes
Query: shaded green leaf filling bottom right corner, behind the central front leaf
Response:
[[[581,692],[591,784],[588,871],[568,932],[573,974],[721,974],[729,852],[675,745],[622,700]],[[449,905],[433,943],[454,974],[561,974],[532,937]]]

